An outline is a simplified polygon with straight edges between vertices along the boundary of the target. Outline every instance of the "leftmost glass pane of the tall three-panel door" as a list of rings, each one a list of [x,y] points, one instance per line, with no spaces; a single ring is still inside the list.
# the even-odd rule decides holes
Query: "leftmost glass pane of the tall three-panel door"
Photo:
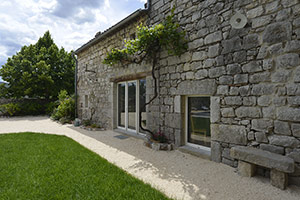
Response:
[[[125,83],[118,84],[118,126],[125,127]]]

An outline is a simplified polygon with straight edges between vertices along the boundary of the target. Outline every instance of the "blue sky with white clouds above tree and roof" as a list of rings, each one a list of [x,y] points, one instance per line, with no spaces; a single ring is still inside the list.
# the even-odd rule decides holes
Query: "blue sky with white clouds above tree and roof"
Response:
[[[0,67],[49,30],[58,47],[76,50],[147,0],[0,0]],[[1,81],[1,77],[0,77]]]

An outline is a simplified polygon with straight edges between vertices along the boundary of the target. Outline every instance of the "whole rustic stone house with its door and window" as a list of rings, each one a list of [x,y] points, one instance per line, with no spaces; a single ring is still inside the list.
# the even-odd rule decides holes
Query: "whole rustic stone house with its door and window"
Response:
[[[76,50],[79,118],[143,135],[138,115],[154,93],[151,65],[102,61],[135,37],[137,25],[161,22],[173,5],[189,48],[180,57],[160,53],[159,96],[141,111],[142,123],[177,148],[233,167],[235,146],[291,158],[289,181],[300,185],[299,0],[149,1]],[[245,17],[241,27],[235,15]]]

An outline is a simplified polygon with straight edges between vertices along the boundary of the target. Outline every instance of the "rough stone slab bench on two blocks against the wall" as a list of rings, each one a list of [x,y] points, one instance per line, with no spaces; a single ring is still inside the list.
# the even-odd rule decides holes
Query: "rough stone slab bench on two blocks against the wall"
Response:
[[[295,169],[292,158],[253,147],[232,147],[230,156],[238,160],[241,176],[254,176],[257,165],[271,169],[271,184],[282,190],[288,185],[288,173],[293,173]]]

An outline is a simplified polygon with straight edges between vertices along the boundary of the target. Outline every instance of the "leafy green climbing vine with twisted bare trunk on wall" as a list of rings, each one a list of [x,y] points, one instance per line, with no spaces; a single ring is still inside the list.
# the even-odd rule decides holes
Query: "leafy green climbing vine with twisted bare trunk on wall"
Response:
[[[155,70],[159,69],[156,64],[160,51],[165,49],[170,55],[180,56],[187,50],[186,33],[181,30],[179,23],[175,20],[174,10],[175,7],[171,10],[171,15],[167,16],[160,24],[150,27],[144,25],[138,26],[136,39],[126,40],[123,49],[112,49],[103,61],[104,64],[110,66],[117,63],[139,64],[145,59],[152,62],[154,96],[145,103],[143,108],[158,96]],[[141,114],[139,121],[141,122]],[[151,136],[154,135],[152,131],[143,128],[142,125],[141,129],[150,133]]]

